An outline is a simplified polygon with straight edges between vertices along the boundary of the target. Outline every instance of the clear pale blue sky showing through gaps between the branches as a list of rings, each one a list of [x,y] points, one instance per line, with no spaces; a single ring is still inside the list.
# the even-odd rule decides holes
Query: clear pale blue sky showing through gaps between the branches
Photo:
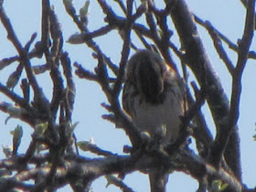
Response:
[[[112,2],[112,1],[108,1]],[[139,1],[137,1],[139,2]],[[84,4],[82,0],[73,0],[74,5],[79,11],[80,7]],[[71,18],[65,11],[62,1],[53,0],[51,4],[54,5],[57,15],[59,16],[59,22],[63,29],[63,35],[65,40],[79,32],[78,28],[73,24]],[[112,3],[112,8],[116,9],[116,5]],[[114,6],[115,5],[115,6]],[[139,5],[139,3],[138,3]],[[233,0],[187,0],[187,5],[190,7],[197,16],[202,19],[207,19],[223,32],[230,40],[237,42],[237,39],[242,36],[244,27],[245,10],[240,4],[240,1]],[[17,37],[25,45],[31,35],[37,32],[37,39],[40,37],[40,13],[41,4],[39,1],[34,0],[8,0],[5,1],[5,11],[10,17],[13,27],[16,30]],[[121,12],[119,12],[121,14]],[[91,1],[89,27],[91,30],[101,27],[104,15],[101,13],[101,9],[97,5],[96,1]],[[219,60],[219,56],[216,54],[212,46],[212,41],[208,37],[208,33],[202,27],[198,27],[200,36],[203,38],[203,43],[208,51],[209,59],[213,64],[213,68],[216,69],[219,74],[219,79],[223,83],[224,89],[227,91],[228,97],[230,96],[231,79],[230,75],[224,65]],[[119,62],[120,51],[122,48],[122,41],[117,39],[117,32],[112,32],[108,37],[97,38],[96,41],[101,45],[102,50],[111,57],[115,63]],[[5,30],[2,24],[0,24],[0,59],[12,57],[16,55],[16,50],[6,40]],[[178,42],[176,34],[173,37],[174,42]],[[178,44],[177,44],[178,45]],[[72,62],[77,61],[82,64],[86,69],[93,70],[97,65],[97,60],[91,59],[91,50],[84,45],[70,45],[65,42],[64,49],[69,52],[69,57]],[[255,40],[252,42],[251,50],[255,50]],[[230,59],[233,63],[236,63],[236,54],[232,51],[228,51]],[[43,60],[33,59],[32,64],[43,64]],[[255,185],[256,173],[256,155],[254,152],[256,149],[256,143],[253,142],[252,135],[255,134],[255,70],[256,66],[253,63],[254,60],[249,60],[246,69],[243,74],[243,90],[241,95],[241,107],[240,107],[240,139],[241,139],[241,161],[243,171],[243,181],[249,187]],[[5,83],[8,78],[8,74],[13,71],[14,63],[11,67],[0,71],[0,81]],[[48,97],[51,95],[51,82],[47,78],[47,74],[38,75],[38,82],[42,85],[43,91],[46,92]],[[189,74],[189,80],[193,79],[193,74]],[[78,141],[90,140],[93,138],[95,143],[103,149],[111,150],[114,153],[121,154],[123,151],[123,145],[129,144],[129,140],[121,129],[115,129],[112,123],[106,122],[101,119],[101,115],[107,113],[102,107],[101,102],[105,102],[106,98],[101,92],[101,87],[95,82],[80,80],[75,77],[77,95],[75,109],[73,113],[73,122],[79,122],[78,127],[75,130]],[[15,91],[19,93],[19,86],[16,86]],[[0,93],[0,101],[5,101],[5,97]],[[203,107],[203,112],[206,115],[208,126],[211,127],[211,131],[214,134],[214,124],[208,112],[207,105]],[[5,118],[7,115],[0,112],[0,145],[11,145],[12,137],[9,134],[11,130],[16,127],[16,124],[22,124],[24,128],[24,140],[22,141],[19,152],[24,152],[27,149],[27,144],[30,141],[31,128],[25,124],[20,123],[14,119],[8,121],[5,125]],[[26,139],[25,139],[26,138]],[[87,154],[83,154],[87,155]],[[0,152],[0,157],[3,158],[3,153]],[[130,187],[133,187],[135,191],[149,191],[147,185],[147,176],[140,173],[134,173],[125,177],[125,183]],[[93,191],[120,191],[116,187],[105,187],[106,180],[104,178],[98,179],[93,184]],[[169,183],[167,188],[172,188],[172,191],[195,191],[197,189],[197,183],[182,173],[175,173],[169,177]],[[63,188],[59,191],[69,191],[69,188]]]

